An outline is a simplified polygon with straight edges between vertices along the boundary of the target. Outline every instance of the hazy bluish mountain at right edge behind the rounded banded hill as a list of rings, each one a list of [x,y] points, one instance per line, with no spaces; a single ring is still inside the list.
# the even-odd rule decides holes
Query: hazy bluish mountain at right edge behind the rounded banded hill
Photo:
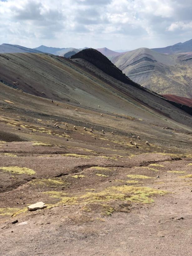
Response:
[[[189,51],[192,51],[192,39],[184,43],[177,43],[175,45],[171,45],[163,48],[153,48],[151,50],[165,53],[165,54],[189,52]]]

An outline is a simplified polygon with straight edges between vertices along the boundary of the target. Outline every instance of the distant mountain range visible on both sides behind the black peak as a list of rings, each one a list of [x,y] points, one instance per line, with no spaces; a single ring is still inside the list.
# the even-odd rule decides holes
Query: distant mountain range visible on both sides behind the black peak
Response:
[[[34,49],[10,44],[0,45],[0,53],[48,53],[66,58],[81,50],[43,45]],[[127,52],[112,51],[106,47],[97,50],[136,83],[158,94],[192,98],[192,39],[164,48],[139,48]]]

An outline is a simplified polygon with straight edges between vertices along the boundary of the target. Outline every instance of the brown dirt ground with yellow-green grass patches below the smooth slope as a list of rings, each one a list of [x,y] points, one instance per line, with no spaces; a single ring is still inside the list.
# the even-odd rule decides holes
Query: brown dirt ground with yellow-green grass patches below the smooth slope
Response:
[[[191,255],[190,128],[1,108],[1,255]]]

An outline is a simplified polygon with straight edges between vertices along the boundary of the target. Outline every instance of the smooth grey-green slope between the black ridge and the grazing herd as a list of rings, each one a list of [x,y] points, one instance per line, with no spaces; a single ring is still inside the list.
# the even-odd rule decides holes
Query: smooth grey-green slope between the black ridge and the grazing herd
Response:
[[[58,100],[95,109],[98,114],[119,114],[160,123],[170,117],[192,126],[191,118],[182,110],[155,94],[116,80],[86,60],[67,60],[45,54],[4,54],[0,56],[0,78],[15,88],[13,82],[18,82],[17,88],[48,98],[50,103]],[[6,88],[3,87],[5,93]],[[19,92],[13,90],[13,94],[17,99]],[[34,97],[28,96],[28,101],[32,106],[35,104]],[[43,98],[42,103],[47,104]],[[21,100],[21,104],[24,101]],[[41,109],[41,106],[34,108]]]

